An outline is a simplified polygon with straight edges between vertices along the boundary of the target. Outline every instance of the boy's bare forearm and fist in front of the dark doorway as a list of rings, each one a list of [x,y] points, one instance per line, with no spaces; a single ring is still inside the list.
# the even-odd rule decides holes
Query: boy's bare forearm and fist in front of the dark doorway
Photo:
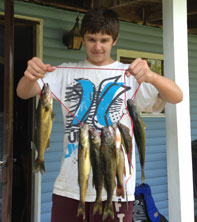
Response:
[[[38,79],[43,78],[46,72],[52,72],[55,67],[44,64],[39,58],[34,57],[28,61],[24,76],[17,85],[17,95],[22,99],[29,99],[40,93]]]

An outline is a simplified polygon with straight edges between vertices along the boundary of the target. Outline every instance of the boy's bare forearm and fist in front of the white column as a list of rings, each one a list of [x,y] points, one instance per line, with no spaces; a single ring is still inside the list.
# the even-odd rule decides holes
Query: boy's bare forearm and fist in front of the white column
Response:
[[[176,83],[164,76],[150,70],[146,60],[135,59],[126,71],[129,77],[133,75],[138,83],[151,83],[159,91],[159,97],[169,103],[179,103],[183,99],[183,93]]]

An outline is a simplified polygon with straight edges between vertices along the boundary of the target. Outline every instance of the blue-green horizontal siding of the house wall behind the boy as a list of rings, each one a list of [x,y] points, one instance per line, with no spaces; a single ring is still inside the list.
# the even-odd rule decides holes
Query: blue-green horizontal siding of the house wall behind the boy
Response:
[[[3,3],[0,1],[0,11]],[[15,1],[15,14],[42,18],[43,24],[43,60],[51,65],[58,65],[65,61],[79,61],[85,58],[85,49],[80,51],[68,50],[62,43],[64,31],[70,30],[75,22],[77,13],[39,6],[32,3]],[[83,17],[82,14],[79,18]],[[197,102],[196,93],[196,51],[197,36],[189,36],[189,71],[191,95],[191,127],[192,139],[197,137]],[[1,47],[1,46],[0,46]],[[112,49],[112,57],[116,59],[117,49],[136,50],[162,54],[162,30],[142,25],[121,22],[120,38]],[[46,174],[42,176],[41,221],[50,221],[51,194],[53,184],[58,175],[62,157],[63,122],[61,106],[54,104],[55,120],[51,134],[50,149],[45,153]],[[166,137],[165,117],[144,117],[146,124],[146,183],[152,190],[155,204],[166,218],[168,218],[168,191],[166,166]],[[0,135],[1,137],[1,135]],[[137,154],[137,183],[140,183],[140,165]],[[175,188],[176,189],[176,188]]]

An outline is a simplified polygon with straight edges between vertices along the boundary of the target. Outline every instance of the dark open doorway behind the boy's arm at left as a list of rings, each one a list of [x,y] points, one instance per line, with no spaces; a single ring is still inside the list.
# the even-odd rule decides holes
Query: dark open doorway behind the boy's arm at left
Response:
[[[31,221],[32,150],[34,100],[16,96],[27,61],[35,56],[35,25],[15,19],[12,221]]]

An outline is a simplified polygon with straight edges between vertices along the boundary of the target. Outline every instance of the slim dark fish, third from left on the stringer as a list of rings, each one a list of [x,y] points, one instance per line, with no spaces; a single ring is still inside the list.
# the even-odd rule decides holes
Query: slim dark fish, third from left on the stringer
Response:
[[[102,214],[102,189],[104,186],[104,175],[101,163],[101,136],[94,128],[90,129],[90,157],[93,171],[93,185],[96,189],[96,200],[93,215]]]

